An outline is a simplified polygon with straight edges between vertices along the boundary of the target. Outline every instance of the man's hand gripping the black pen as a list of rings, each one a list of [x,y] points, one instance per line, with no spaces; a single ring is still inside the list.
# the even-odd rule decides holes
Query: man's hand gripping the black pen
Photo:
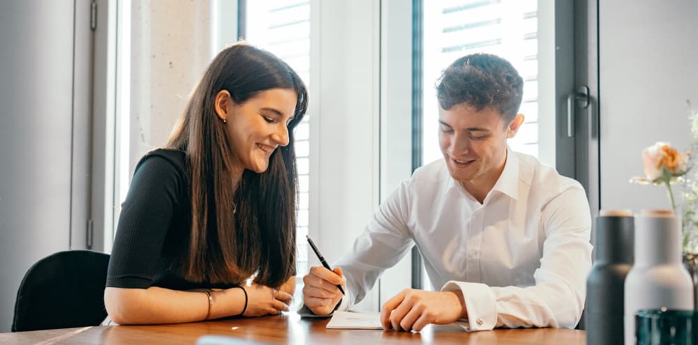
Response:
[[[346,277],[339,267],[328,270],[322,266],[313,266],[303,277],[303,283],[304,303],[318,315],[334,312],[334,308],[341,301],[343,293],[337,285],[341,285],[346,291]]]

